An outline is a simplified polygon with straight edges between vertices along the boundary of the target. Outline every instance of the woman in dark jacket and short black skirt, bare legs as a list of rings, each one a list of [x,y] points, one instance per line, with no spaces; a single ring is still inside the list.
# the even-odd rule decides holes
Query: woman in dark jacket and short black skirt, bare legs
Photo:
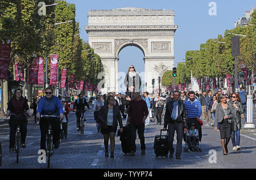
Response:
[[[109,156],[109,139],[110,139],[110,158],[114,158],[115,132],[119,124],[120,132],[123,131],[123,123],[118,105],[114,106],[115,98],[109,95],[106,104],[101,107],[97,114],[97,119],[101,122],[101,132],[104,136],[105,157]]]

